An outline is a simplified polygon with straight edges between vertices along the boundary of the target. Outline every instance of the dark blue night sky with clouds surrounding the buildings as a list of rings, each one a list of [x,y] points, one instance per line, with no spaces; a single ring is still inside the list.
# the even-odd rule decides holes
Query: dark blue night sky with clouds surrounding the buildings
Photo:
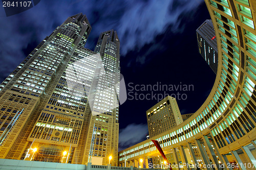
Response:
[[[146,110],[158,103],[157,95],[163,98],[166,93],[183,94],[185,100],[177,100],[181,114],[194,113],[204,103],[216,75],[197,47],[196,29],[210,19],[202,0],[41,0],[32,9],[9,17],[2,7],[0,82],[42,39],[69,16],[80,12],[87,15],[92,26],[86,48],[94,50],[103,31],[114,29],[120,39],[121,74],[128,95],[119,107],[119,150],[145,139]],[[194,88],[190,91],[133,89],[135,85],[156,84],[193,85]],[[136,100],[135,92],[141,99],[148,94],[150,100]]]

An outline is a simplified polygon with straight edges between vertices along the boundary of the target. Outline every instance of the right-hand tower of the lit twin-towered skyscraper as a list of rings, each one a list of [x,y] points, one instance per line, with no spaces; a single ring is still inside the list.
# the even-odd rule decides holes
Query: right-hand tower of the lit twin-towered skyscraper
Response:
[[[118,133],[119,133],[119,80],[120,80],[120,55],[119,39],[116,31],[110,30],[100,34],[94,52],[99,53],[102,58],[103,73],[97,81],[97,89],[93,100],[93,114],[89,129],[95,129],[95,142],[93,147],[93,164],[109,163],[112,156],[112,165],[117,164],[118,156]],[[89,101],[89,103],[90,103]],[[91,105],[91,104],[90,104]],[[103,115],[98,115],[98,113]],[[91,131],[86,140],[86,152],[84,157],[90,155],[90,145],[93,132]],[[103,159],[103,160],[101,160]]]

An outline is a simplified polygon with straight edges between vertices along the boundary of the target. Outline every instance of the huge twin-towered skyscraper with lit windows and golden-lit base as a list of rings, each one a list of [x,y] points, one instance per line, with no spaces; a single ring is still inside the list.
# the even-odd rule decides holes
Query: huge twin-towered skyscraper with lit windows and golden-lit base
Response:
[[[68,17],[0,85],[0,158],[117,163],[119,39]]]

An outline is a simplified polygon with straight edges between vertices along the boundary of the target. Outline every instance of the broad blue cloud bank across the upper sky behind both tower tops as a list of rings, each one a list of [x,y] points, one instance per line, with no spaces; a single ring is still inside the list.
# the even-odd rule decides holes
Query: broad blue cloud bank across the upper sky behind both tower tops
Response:
[[[94,49],[99,34],[115,29],[121,42],[121,55],[134,48],[151,43],[172,25],[173,32],[180,29],[180,16],[195,10],[203,0],[159,1],[41,1],[23,13],[0,18],[1,23],[1,82],[26,57],[30,42],[37,42],[59,26],[68,16],[82,12],[93,27],[87,47]],[[3,9],[2,9],[3,10]],[[1,14],[3,11],[1,11]],[[143,64],[145,56],[134,59]],[[13,60],[15,59],[15,60]],[[4,64],[5,63],[5,64]]]

